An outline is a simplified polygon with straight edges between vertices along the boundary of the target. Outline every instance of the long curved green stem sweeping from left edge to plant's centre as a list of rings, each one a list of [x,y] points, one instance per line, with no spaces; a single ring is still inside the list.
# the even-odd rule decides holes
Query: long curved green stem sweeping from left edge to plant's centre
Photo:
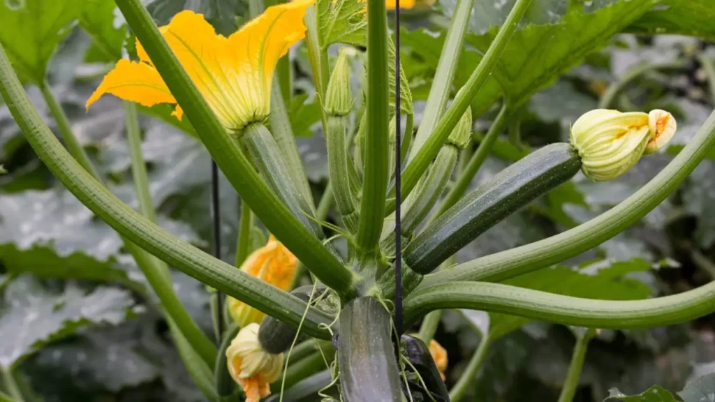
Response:
[[[89,210],[92,210],[114,230],[126,236],[130,240],[130,242],[126,243],[127,245],[132,245],[132,242],[134,242],[139,247],[182,270],[187,275],[286,323],[292,323],[293,325],[300,323],[303,312],[307,308],[305,302],[295,296],[277,290],[262,280],[242,273],[232,265],[213,258],[189,243],[169,234],[166,230],[139,215],[132,208],[124,205],[122,201],[89,175],[69,155],[46,124],[42,122],[41,117],[39,117],[29,97],[27,97],[22,84],[17,79],[1,45],[0,94],[5,99],[12,116],[19,124],[29,144],[49,170]],[[248,162],[246,161],[246,163]],[[248,166],[250,167],[250,165]],[[245,175],[250,174],[250,172],[245,173]],[[255,198],[253,200],[256,201]],[[276,199],[276,202],[280,203],[280,200]],[[292,245],[295,247],[295,242]],[[332,255],[325,248],[322,248],[322,250],[325,250],[327,256],[332,258]],[[300,258],[300,255],[298,257]],[[310,258],[307,260],[310,260]],[[320,261],[323,264],[330,263],[328,259]],[[339,263],[338,266],[342,268]],[[157,275],[164,278],[161,274]],[[330,333],[322,330],[318,325],[320,323],[330,323],[331,321],[332,318],[329,315],[310,308],[303,323],[303,328],[305,333],[311,336],[330,338]]]

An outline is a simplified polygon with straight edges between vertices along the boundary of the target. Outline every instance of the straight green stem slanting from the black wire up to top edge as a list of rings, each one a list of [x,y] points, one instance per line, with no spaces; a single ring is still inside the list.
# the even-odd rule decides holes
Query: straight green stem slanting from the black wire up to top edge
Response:
[[[511,35],[516,30],[516,26],[518,26],[519,21],[521,21],[521,17],[526,12],[526,9],[528,9],[529,4],[531,4],[531,0],[516,1],[516,4],[514,4],[513,9],[509,12],[506,21],[504,21],[501,29],[499,29],[499,33],[489,46],[486,54],[469,77],[465,86],[458,92],[452,106],[447,109],[447,112],[445,112],[444,116],[439,120],[435,129],[427,141],[425,141],[425,144],[420,147],[412,160],[410,160],[409,165],[403,172],[403,187],[400,200],[404,200],[415,185],[417,185],[418,180],[420,180],[420,177],[422,177],[425,170],[427,170],[430,162],[437,156],[442,144],[444,144],[450,132],[452,132],[462,118],[464,112],[472,102],[472,99],[474,99],[479,89],[481,89],[482,85],[488,79],[499,57],[501,57],[504,49],[506,49]],[[391,211],[388,210],[387,212]]]

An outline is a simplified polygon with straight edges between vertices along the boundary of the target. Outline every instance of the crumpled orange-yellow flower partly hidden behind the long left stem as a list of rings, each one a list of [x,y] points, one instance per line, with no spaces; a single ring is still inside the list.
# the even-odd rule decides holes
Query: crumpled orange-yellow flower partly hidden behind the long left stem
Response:
[[[298,259],[271,235],[265,246],[255,250],[241,265],[241,270],[248,275],[274,285],[281,290],[288,290],[298,268]],[[228,299],[231,316],[240,327],[250,323],[260,323],[265,313],[252,308],[235,298]]]

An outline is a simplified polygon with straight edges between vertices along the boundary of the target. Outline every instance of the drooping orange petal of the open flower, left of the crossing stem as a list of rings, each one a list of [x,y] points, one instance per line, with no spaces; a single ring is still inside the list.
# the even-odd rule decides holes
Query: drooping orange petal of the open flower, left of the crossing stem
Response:
[[[87,108],[107,93],[147,107],[177,102],[154,67],[127,59],[119,60],[117,66],[104,76],[102,84],[87,100]]]

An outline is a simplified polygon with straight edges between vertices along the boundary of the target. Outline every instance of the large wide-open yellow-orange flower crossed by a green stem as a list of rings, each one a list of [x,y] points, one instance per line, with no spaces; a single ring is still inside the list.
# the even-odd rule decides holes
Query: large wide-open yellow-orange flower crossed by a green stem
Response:
[[[240,134],[270,112],[270,87],[278,59],[305,36],[303,16],[315,0],[272,6],[228,37],[217,35],[201,14],[181,11],[160,31],[220,122]],[[139,62],[119,60],[107,73],[87,107],[103,94],[137,102],[176,104],[162,77],[137,41]],[[181,119],[177,105],[174,116]]]

